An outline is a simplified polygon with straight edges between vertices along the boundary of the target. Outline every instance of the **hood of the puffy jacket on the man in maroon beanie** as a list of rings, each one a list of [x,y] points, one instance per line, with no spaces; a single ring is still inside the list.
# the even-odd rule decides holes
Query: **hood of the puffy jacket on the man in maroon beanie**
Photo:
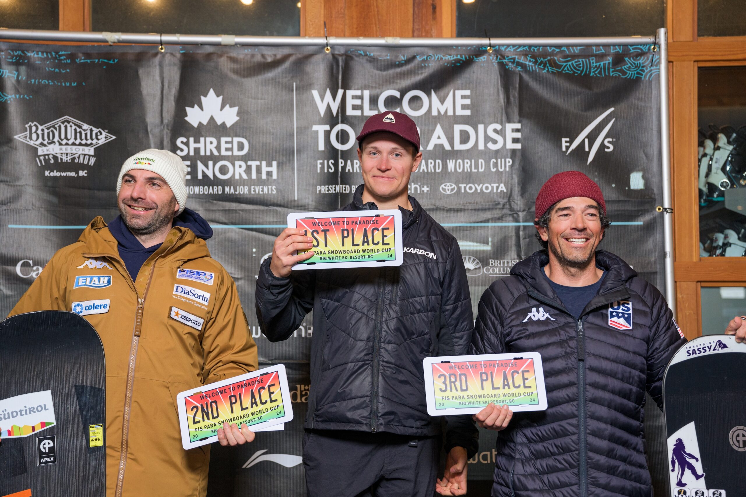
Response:
[[[547,297],[553,297],[554,290],[544,277],[544,266],[548,264],[549,253],[546,250],[539,250],[513,266],[510,274],[524,280],[527,287],[535,288]],[[598,289],[599,294],[624,287],[630,279],[637,276],[636,270],[630,268],[627,262],[606,250],[596,250],[596,265],[606,271],[601,288]]]

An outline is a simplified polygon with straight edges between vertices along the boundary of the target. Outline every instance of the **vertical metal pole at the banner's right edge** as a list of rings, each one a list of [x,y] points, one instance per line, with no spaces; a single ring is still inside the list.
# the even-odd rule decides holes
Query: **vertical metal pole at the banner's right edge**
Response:
[[[668,31],[657,31],[660,52],[660,143],[663,180],[663,253],[665,263],[665,300],[676,316],[676,284],[674,282],[674,220],[671,207],[671,144],[668,130]]]

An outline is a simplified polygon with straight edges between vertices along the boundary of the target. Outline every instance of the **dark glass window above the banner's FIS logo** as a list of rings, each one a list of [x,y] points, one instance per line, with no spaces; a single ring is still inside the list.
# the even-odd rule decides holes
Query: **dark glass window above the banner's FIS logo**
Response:
[[[457,0],[458,37],[650,36],[665,28],[665,0]]]

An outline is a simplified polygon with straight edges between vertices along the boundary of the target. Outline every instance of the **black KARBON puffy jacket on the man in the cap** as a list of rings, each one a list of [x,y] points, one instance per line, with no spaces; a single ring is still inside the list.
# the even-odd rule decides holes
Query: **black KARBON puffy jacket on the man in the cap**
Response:
[[[363,186],[342,210],[363,204]],[[404,262],[388,268],[295,271],[278,278],[267,259],[257,279],[257,318],[285,340],[313,308],[311,385],[305,428],[439,434],[427,414],[422,359],[466,353],[473,317],[456,238],[410,198],[402,212]],[[446,449],[477,451],[469,417],[449,418]]]

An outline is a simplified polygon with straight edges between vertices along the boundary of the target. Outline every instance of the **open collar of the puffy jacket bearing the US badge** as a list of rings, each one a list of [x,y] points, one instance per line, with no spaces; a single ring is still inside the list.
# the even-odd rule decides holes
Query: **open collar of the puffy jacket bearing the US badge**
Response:
[[[536,300],[565,310],[560,298],[557,297],[554,289],[544,277],[544,266],[548,263],[549,254],[547,251],[539,250],[513,266],[510,274],[522,279],[528,293]],[[589,302],[583,310],[583,314],[592,308],[629,298],[630,292],[627,291],[626,283],[637,276],[637,272],[630,268],[627,262],[624,262],[619,256],[606,252],[606,250],[596,251],[596,265],[606,271],[606,276],[604,276],[604,281],[601,282],[601,288],[598,288],[598,294]]]

